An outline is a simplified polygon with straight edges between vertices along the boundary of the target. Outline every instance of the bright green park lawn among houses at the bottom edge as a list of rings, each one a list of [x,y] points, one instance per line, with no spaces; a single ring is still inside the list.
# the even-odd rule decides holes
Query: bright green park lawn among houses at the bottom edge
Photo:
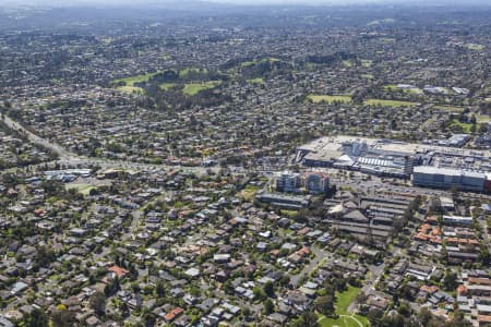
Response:
[[[328,318],[319,315],[319,324],[322,327],[364,327],[370,326],[367,317],[360,315],[351,315],[348,313],[349,305],[355,301],[361,289],[348,286],[348,290],[343,293],[336,293],[336,314],[339,315],[337,319]]]

